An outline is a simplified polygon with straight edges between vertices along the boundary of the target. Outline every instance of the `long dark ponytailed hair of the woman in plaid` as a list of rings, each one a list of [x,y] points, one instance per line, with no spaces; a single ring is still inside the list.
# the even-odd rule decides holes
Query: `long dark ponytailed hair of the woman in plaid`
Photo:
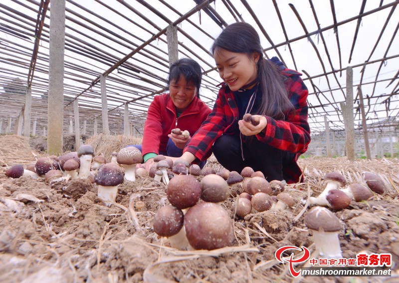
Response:
[[[263,58],[259,35],[250,24],[235,22],[228,25],[213,42],[212,54],[217,52],[217,48],[235,53],[245,53],[250,58],[253,52],[259,53],[257,73],[259,87],[262,91],[262,105],[256,114],[284,119],[284,113],[294,109],[288,98],[283,75],[277,65]]]

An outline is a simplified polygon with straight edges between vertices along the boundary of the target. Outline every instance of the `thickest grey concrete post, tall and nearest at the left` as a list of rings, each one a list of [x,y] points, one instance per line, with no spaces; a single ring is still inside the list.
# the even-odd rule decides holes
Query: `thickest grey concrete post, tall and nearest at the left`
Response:
[[[65,0],[51,1],[47,153],[62,153],[64,116]]]

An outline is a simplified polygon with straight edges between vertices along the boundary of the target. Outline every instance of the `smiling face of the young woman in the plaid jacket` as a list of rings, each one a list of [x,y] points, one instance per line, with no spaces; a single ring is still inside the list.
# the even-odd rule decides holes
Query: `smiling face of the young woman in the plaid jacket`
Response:
[[[250,57],[246,53],[235,53],[217,48],[213,54],[220,77],[232,91],[252,82],[257,77],[256,62],[259,53],[253,52]]]

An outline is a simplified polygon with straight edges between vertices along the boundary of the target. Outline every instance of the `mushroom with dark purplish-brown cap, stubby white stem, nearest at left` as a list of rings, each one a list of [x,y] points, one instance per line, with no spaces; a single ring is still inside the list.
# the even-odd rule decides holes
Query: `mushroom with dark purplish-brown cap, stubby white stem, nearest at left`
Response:
[[[118,193],[118,185],[123,183],[123,179],[123,173],[118,164],[104,164],[104,166],[98,170],[98,173],[94,178],[98,185],[98,198],[103,200],[106,205],[115,202]]]

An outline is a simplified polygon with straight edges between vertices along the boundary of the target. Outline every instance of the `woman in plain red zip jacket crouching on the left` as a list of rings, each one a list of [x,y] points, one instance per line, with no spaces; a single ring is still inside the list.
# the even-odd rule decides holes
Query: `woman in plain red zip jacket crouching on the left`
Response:
[[[138,146],[147,170],[158,154],[181,156],[191,135],[210,113],[210,108],[200,100],[201,76],[200,64],[193,59],[179,59],[169,68],[169,93],[155,96],[151,102],[144,124],[142,148]],[[190,136],[171,133],[175,128],[189,131]]]

